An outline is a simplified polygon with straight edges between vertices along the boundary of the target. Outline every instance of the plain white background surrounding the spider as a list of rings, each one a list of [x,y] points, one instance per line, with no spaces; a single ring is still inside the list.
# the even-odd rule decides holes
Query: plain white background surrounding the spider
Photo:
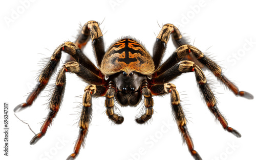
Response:
[[[24,0],[25,1],[25,0]],[[28,126],[13,113],[25,102],[35,86],[40,65],[64,41],[75,41],[79,24],[96,20],[104,34],[105,46],[121,36],[133,36],[152,53],[160,25],[173,23],[183,36],[223,67],[224,74],[241,90],[255,94],[254,61],[256,51],[255,5],[249,1],[21,1],[1,2],[1,102],[9,103],[9,156],[4,159],[66,159],[73,152],[78,135],[78,117],[83,90],[87,84],[67,74],[67,86],[61,109],[46,136],[31,146],[34,136]],[[27,1],[28,2],[28,1]],[[252,2],[252,1],[251,1]],[[14,15],[14,12],[18,12]],[[248,41],[252,41],[249,44]],[[210,47],[210,48],[209,48]],[[209,49],[208,49],[209,48]],[[165,59],[175,50],[168,43]],[[89,44],[85,54],[93,60]],[[62,54],[65,62],[67,54]],[[46,61],[47,62],[47,61]],[[181,75],[174,83],[180,92],[195,150],[203,159],[255,159],[255,100],[236,97],[205,71],[218,98],[220,111],[229,126],[240,131],[236,138],[225,131],[200,97],[194,73]],[[49,84],[53,84],[54,78]],[[48,89],[48,91],[47,91]],[[47,88],[28,109],[16,115],[38,133],[48,114]],[[78,97],[76,97],[78,96]],[[43,105],[45,104],[45,105]],[[181,136],[170,109],[170,96],[154,97],[153,121],[138,125],[137,108],[120,108],[122,125],[112,124],[104,113],[104,98],[93,100],[93,119],[86,147],[77,159],[193,159]],[[3,129],[3,110],[1,110]],[[166,127],[164,124],[170,124]],[[75,125],[74,125],[75,124]],[[2,130],[1,129],[1,130]],[[152,137],[155,139],[152,140]],[[61,142],[60,142],[61,141]]]

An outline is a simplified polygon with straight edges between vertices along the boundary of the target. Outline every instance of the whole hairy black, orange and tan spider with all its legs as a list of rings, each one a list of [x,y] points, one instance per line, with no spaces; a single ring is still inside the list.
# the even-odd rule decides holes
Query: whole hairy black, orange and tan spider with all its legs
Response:
[[[170,35],[172,35],[177,49],[161,64]],[[90,38],[92,39],[98,68],[81,51]],[[214,114],[223,128],[234,136],[241,137],[237,130],[228,126],[227,121],[217,108],[216,98],[199,66],[206,66],[235,95],[247,99],[253,99],[253,96],[248,92],[239,91],[238,87],[223,75],[221,68],[214,61],[207,58],[198,48],[188,45],[178,28],[173,24],[162,26],[154,44],[152,57],[143,45],[131,37],[124,37],[116,41],[105,51],[99,24],[96,21],[88,21],[84,24],[75,43],[65,42],[55,49],[51,60],[39,76],[39,83],[30,93],[26,102],[17,105],[14,112],[27,108],[33,103],[38,94],[44,90],[61,58],[62,51],[68,53],[72,59],[65,63],[57,74],[56,86],[49,103],[49,114],[42,124],[40,132],[30,141],[31,145],[46,134],[49,125],[59,110],[65,90],[66,72],[75,73],[89,84],[84,89],[82,97],[83,107],[79,121],[79,136],[74,152],[67,159],[77,157],[80,147],[87,136],[92,114],[92,96],[105,97],[106,115],[116,124],[121,124],[124,118],[114,112],[114,98],[121,106],[136,106],[143,96],[145,113],[136,117],[136,122],[143,124],[150,120],[154,113],[152,97],[164,94],[170,94],[172,111],[189,152],[195,159],[202,159],[194,149],[193,142],[189,136],[186,117],[180,104],[180,96],[176,86],[169,83],[182,73],[188,72],[195,73],[198,87],[208,109]],[[193,62],[194,59],[197,61]]]

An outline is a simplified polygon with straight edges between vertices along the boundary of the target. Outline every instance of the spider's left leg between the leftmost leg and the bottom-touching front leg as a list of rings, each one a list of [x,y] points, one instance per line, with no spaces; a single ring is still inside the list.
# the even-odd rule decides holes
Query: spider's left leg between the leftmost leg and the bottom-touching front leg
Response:
[[[42,124],[39,134],[35,135],[32,140],[30,141],[30,144],[35,144],[42,136],[46,134],[47,128],[52,123],[52,120],[55,118],[60,102],[63,97],[63,93],[65,90],[66,85],[66,72],[72,72],[77,74],[79,77],[87,81],[88,83],[95,83],[100,85],[102,82],[102,79],[89,71],[87,68],[83,67],[82,65],[79,65],[77,62],[68,62],[60,69],[58,72],[57,78],[56,78],[56,86],[53,91],[51,100],[50,100],[50,111],[49,114],[44,122]],[[95,86],[95,85],[92,85]],[[89,86],[90,87],[90,86]],[[96,95],[102,95],[106,92],[105,86],[96,86],[98,92]],[[87,88],[86,88],[87,89]],[[95,91],[96,92],[96,91]],[[94,93],[95,94],[95,93]]]

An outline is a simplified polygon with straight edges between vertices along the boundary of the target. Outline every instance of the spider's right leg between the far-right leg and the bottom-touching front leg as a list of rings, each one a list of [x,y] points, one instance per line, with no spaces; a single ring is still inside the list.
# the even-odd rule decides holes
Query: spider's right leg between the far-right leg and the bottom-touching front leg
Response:
[[[214,93],[212,93],[209,85],[207,84],[207,80],[206,80],[206,77],[205,77],[203,71],[194,62],[181,61],[179,64],[173,66],[172,68],[170,68],[163,74],[157,76],[155,78],[155,80],[157,80],[157,81],[155,81],[155,82],[157,82],[156,84],[161,84],[160,82],[166,83],[166,82],[169,82],[170,80],[174,79],[175,77],[181,75],[182,73],[192,72],[192,71],[195,72],[199,89],[206,101],[208,109],[220,121],[221,125],[223,126],[223,128],[225,130],[231,132],[236,137],[241,137],[241,135],[239,134],[239,132],[237,130],[228,126],[227,121],[225,120],[225,118],[222,116],[222,114],[220,113],[220,111],[217,108],[217,105],[216,105],[217,101],[215,99]],[[170,74],[170,75],[167,76],[167,74]],[[164,79],[164,77],[166,77],[166,78]],[[154,78],[153,78],[153,82],[154,82]]]

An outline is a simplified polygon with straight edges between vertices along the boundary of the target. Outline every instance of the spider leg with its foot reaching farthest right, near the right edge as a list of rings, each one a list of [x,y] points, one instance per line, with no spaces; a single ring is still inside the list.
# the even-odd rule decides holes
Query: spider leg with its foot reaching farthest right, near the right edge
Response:
[[[235,95],[245,97],[247,99],[253,99],[253,95],[245,91],[239,91],[238,87],[230,82],[222,73],[220,66],[218,66],[214,61],[207,58],[203,52],[198,48],[191,45],[182,45],[174,52],[174,54],[156,71],[157,75],[164,73],[168,70],[168,63],[173,64],[175,62],[180,62],[188,54],[194,55],[197,60],[206,66],[214,75],[227,86]]]

